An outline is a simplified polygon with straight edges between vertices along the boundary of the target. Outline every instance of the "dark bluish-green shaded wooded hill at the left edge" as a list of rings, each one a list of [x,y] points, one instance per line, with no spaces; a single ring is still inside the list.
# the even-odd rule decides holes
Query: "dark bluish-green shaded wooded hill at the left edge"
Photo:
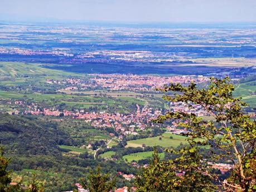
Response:
[[[69,142],[69,136],[36,118],[1,114],[0,141],[10,154],[60,155],[57,145]]]

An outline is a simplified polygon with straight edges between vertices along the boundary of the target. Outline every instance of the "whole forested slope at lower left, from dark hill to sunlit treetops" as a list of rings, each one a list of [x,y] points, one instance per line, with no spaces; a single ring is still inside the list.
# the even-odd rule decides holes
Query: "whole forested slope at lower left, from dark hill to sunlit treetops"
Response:
[[[32,173],[46,181],[46,191],[71,190],[72,185],[80,180],[89,168],[103,167],[105,173],[136,173],[131,165],[124,162],[98,161],[88,155],[62,155],[58,145],[70,145],[69,135],[60,131],[57,124],[40,120],[36,117],[17,117],[0,114],[0,143],[5,147],[7,156],[11,156],[9,169],[13,169],[13,181],[23,180],[26,184]],[[21,178],[22,176],[22,178]],[[117,185],[126,185],[119,178]]]

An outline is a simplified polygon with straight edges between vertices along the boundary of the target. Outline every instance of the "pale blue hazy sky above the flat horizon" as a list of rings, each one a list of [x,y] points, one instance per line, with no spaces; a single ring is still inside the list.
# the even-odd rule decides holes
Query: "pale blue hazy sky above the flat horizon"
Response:
[[[256,0],[0,0],[0,20],[256,22]]]

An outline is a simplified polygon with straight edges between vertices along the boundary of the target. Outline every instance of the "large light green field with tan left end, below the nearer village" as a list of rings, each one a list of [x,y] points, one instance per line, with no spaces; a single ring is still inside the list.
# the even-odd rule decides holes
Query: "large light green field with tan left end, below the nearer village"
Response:
[[[170,139],[170,136],[172,136],[173,139]],[[162,137],[162,140],[159,139],[160,137]],[[142,147],[143,144],[146,144],[146,146],[159,145],[162,147],[177,147],[178,145],[181,144],[181,142],[183,144],[187,143],[185,136],[165,133],[162,134],[162,136],[127,141],[127,145],[125,147]]]

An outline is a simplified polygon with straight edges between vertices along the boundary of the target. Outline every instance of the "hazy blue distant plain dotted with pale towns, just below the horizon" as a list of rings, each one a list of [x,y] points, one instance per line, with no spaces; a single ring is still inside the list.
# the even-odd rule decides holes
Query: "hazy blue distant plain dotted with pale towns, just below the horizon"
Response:
[[[3,43],[0,54],[61,56],[65,63],[191,62],[200,56],[205,58],[206,53],[209,57],[212,52],[215,55],[222,53],[225,47],[254,46],[253,37],[250,28],[199,30],[1,24],[0,40]],[[30,45],[36,45],[37,51],[20,48]],[[137,46],[136,51],[134,46]],[[192,48],[187,50],[186,47]]]

